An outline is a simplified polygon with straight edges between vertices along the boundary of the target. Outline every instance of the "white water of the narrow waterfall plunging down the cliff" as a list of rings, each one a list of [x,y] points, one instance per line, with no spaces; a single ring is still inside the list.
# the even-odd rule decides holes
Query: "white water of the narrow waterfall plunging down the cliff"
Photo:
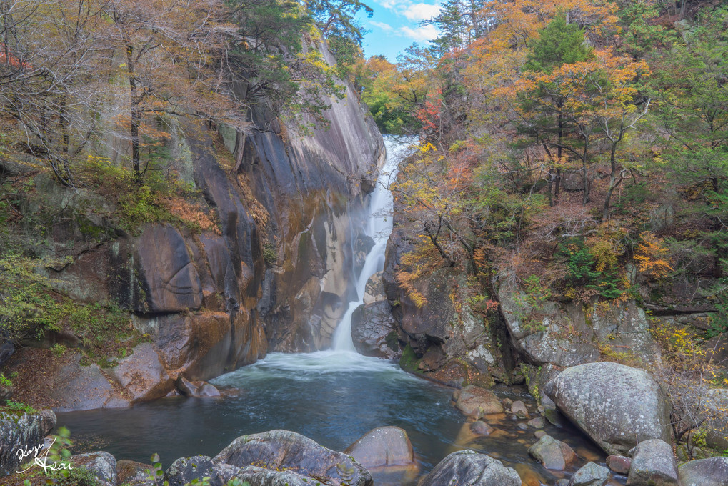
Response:
[[[367,254],[357,278],[357,300],[349,302],[349,308],[333,334],[331,347],[335,351],[356,352],[352,341],[352,314],[364,303],[364,290],[369,278],[384,269],[384,251],[389,233],[392,232],[392,193],[389,192],[389,183],[395,180],[397,165],[408,154],[408,147],[415,141],[414,137],[384,137],[387,160],[370,196],[368,227],[365,231],[374,240],[374,246]]]

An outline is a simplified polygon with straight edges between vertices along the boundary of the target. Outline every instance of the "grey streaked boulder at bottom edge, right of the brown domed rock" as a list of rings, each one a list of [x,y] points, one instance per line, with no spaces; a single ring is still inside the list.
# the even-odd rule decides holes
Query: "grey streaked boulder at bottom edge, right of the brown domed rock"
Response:
[[[472,450],[453,452],[418,486],[521,486],[521,478],[501,461]]]

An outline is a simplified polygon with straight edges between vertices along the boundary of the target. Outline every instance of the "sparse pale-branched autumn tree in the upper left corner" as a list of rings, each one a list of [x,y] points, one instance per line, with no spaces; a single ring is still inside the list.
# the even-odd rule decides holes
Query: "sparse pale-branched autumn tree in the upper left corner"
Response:
[[[0,2],[3,130],[71,186],[71,161],[97,127],[98,13],[91,0]]]

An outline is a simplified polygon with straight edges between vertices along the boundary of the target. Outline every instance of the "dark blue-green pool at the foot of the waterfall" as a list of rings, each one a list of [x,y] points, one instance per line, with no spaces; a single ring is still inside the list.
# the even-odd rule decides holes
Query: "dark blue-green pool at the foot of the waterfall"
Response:
[[[213,383],[239,388],[240,394],[218,399],[173,397],[129,409],[60,413],[58,425],[71,430],[79,452],[106,450],[117,460],[144,463],[158,453],[165,467],[180,457],[214,456],[238,436],[275,428],[344,450],[372,428],[399,426],[411,439],[419,470],[373,471],[375,485],[380,486],[416,485],[448,453],[465,448],[499,458],[529,486],[552,485],[587,460],[604,463],[604,453],[579,431],[547,425],[547,433],[568,443],[580,458],[566,475],[547,471],[529,458],[528,447],[536,442],[533,428],[520,430],[505,414],[494,415],[488,422],[496,433],[473,436],[466,418],[450,403],[451,388],[356,353],[271,353]],[[528,399],[522,388],[496,388],[496,393]]]

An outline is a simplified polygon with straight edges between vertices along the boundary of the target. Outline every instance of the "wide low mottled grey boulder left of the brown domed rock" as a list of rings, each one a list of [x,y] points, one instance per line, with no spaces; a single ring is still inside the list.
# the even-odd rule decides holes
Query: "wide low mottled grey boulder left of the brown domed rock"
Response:
[[[215,462],[240,468],[293,469],[304,476],[346,481],[352,486],[372,485],[371,474],[357,460],[290,431],[240,436],[215,456]]]

